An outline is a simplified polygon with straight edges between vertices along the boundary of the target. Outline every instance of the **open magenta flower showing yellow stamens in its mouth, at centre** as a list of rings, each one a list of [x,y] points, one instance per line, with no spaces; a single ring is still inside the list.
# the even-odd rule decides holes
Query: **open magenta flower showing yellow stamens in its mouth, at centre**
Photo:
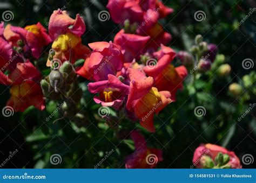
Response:
[[[89,83],[88,89],[91,93],[99,93],[93,100],[103,106],[119,109],[124,98],[129,94],[129,86],[124,85],[116,76],[109,74],[108,80]]]

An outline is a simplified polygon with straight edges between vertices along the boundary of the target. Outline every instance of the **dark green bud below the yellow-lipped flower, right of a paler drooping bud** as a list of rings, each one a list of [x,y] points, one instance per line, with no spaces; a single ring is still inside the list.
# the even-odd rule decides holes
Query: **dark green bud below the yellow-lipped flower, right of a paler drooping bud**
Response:
[[[66,82],[73,82],[76,78],[76,72],[70,61],[63,62],[62,66],[59,67],[59,72],[63,74]]]

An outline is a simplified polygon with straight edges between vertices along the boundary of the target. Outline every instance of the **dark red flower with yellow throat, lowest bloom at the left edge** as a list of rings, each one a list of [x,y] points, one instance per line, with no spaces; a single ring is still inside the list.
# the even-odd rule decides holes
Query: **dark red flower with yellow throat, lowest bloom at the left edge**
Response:
[[[6,105],[14,108],[15,111],[24,111],[31,105],[43,110],[44,98],[38,81],[41,74],[29,60],[25,63],[18,63],[14,71],[8,76],[0,73],[0,84],[9,85],[11,97]]]

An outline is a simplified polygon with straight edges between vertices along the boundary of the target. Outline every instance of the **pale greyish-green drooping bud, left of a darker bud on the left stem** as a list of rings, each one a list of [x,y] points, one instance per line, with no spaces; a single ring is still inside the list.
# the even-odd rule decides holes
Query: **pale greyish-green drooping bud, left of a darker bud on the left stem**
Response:
[[[58,93],[63,87],[63,76],[58,70],[52,70],[49,74],[50,85]]]

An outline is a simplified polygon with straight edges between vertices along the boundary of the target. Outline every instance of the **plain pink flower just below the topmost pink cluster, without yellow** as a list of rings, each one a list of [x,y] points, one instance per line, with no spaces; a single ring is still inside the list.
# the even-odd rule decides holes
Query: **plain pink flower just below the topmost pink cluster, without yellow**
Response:
[[[114,44],[120,46],[125,62],[132,62],[133,59],[138,59],[143,54],[142,50],[149,40],[149,36],[127,34],[122,29],[114,37]]]

